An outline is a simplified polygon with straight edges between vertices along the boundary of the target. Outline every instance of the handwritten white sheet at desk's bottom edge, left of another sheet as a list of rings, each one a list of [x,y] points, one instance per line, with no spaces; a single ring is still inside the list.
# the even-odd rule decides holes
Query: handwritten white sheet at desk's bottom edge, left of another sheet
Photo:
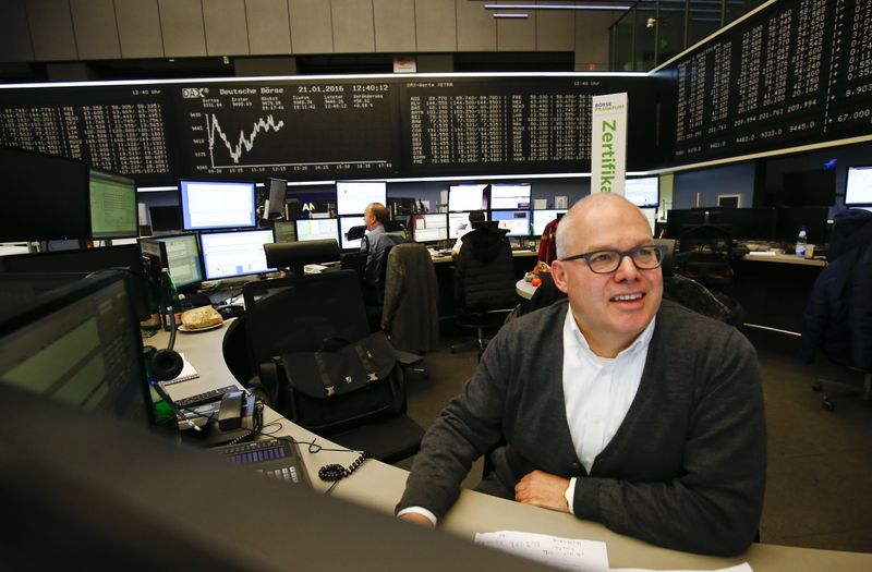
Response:
[[[545,534],[499,531],[477,533],[475,544],[562,570],[608,571],[606,545],[597,540],[578,540]]]

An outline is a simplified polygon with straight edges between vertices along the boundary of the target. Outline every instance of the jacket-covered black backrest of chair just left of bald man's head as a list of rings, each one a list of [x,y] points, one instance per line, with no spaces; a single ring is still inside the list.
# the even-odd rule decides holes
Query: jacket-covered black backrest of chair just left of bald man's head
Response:
[[[455,299],[467,312],[511,308],[517,303],[514,263],[505,232],[477,228],[463,236],[455,261]]]

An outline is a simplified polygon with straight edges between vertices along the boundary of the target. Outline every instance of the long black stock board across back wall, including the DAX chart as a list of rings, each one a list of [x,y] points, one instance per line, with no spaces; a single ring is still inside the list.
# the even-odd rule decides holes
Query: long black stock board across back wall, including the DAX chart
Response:
[[[590,169],[591,97],[630,93],[629,163],[662,165],[655,78],[562,75],[205,81],[0,89],[0,144],[140,186]]]

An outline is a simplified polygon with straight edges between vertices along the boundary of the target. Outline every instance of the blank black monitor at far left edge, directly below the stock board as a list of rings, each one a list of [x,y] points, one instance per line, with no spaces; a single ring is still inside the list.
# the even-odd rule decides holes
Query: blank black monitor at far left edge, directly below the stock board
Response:
[[[85,163],[0,147],[0,242],[90,238]]]

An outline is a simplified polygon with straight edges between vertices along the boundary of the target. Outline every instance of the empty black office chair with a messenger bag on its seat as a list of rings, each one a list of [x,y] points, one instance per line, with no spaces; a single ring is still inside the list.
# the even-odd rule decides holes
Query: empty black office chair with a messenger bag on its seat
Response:
[[[249,319],[249,342],[262,377],[276,356],[315,352],[326,342],[356,342],[370,336],[363,295],[351,270],[250,282],[243,288]],[[328,428],[306,427],[349,449],[396,462],[417,452],[423,429],[405,415],[405,382],[400,373],[396,403],[377,419],[362,422],[370,411],[337,418]],[[265,390],[274,392],[264,379]],[[276,409],[300,423],[289,398],[279,387]],[[304,423],[300,423],[305,426]]]

